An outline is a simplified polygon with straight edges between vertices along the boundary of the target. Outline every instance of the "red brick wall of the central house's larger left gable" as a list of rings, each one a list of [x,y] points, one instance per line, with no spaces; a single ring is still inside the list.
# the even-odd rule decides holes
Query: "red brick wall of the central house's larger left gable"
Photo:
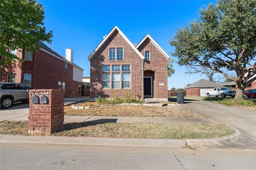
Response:
[[[122,61],[109,61],[109,48],[123,48]],[[116,31],[90,60],[90,98],[123,97],[124,93],[142,96],[142,59]],[[102,89],[102,65],[130,65],[130,89]],[[120,66],[121,67],[121,66]],[[121,69],[121,68],[120,68]],[[110,76],[111,77],[111,76]],[[110,81],[111,82],[111,81]],[[122,87],[122,79],[120,80]],[[111,85],[110,85],[111,87]]]

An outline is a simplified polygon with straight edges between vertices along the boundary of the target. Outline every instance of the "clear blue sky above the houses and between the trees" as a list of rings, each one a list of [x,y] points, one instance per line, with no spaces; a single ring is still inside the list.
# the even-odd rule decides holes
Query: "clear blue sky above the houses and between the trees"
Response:
[[[149,34],[170,53],[168,41],[175,31],[197,19],[198,8],[210,0],[39,0],[45,7],[44,26],[53,31],[51,49],[65,57],[65,49],[74,51],[74,63],[90,76],[88,56],[100,44],[103,36],[117,25],[132,43],[139,43]],[[216,0],[211,0],[216,3]],[[47,44],[48,45],[48,44]],[[174,61],[176,57],[170,55]],[[170,88],[184,88],[206,76],[184,74],[185,67],[174,62],[175,73],[168,78]]]

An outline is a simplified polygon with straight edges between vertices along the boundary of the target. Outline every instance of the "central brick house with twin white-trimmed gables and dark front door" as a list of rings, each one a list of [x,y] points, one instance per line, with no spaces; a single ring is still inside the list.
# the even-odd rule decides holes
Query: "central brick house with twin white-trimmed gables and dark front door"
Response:
[[[146,35],[134,45],[115,26],[90,54],[90,98],[168,98],[168,54]]]

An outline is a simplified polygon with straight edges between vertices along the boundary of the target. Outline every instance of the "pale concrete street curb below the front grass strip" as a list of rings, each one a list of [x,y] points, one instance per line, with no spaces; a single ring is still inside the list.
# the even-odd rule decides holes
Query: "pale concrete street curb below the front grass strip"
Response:
[[[185,147],[181,139],[131,139],[101,137],[57,137],[57,136],[22,136],[2,135],[0,143],[44,143],[63,145],[108,145],[130,147]]]

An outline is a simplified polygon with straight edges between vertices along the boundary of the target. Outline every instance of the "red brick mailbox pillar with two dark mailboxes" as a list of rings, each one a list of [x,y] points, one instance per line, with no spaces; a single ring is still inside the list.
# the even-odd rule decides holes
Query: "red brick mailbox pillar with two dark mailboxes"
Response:
[[[28,90],[29,134],[50,134],[63,125],[65,91],[57,89]]]

